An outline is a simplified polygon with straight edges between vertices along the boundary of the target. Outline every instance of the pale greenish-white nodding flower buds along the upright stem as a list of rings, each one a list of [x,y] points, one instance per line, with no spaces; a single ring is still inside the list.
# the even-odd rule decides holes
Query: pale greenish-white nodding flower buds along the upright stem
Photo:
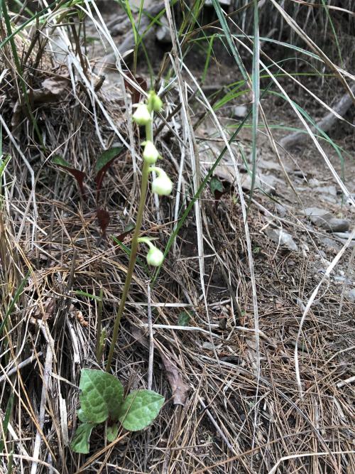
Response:
[[[145,102],[136,105],[136,112],[132,118],[133,122],[138,125],[146,126],[146,141],[143,141],[143,161],[148,165],[148,173],[155,171],[156,176],[152,181],[152,191],[160,196],[168,196],[173,190],[173,182],[162,168],[152,166],[162,158],[153,142],[153,114],[163,109],[163,102],[154,91],[149,92]],[[155,245],[152,244],[148,237],[138,239],[139,243],[147,244],[149,247],[146,259],[149,265],[160,266],[164,260],[164,254]]]

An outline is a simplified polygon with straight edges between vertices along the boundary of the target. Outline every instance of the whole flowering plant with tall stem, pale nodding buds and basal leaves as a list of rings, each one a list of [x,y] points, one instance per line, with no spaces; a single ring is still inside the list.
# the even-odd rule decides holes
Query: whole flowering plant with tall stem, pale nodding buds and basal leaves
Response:
[[[124,388],[121,382],[113,375],[109,374],[111,361],[114,355],[114,348],[119,334],[121,316],[124,312],[126,298],[131,286],[133,269],[136,264],[138,244],[146,244],[149,249],[146,259],[151,266],[160,266],[164,260],[164,254],[152,243],[149,237],[139,237],[143,219],[143,210],[146,205],[146,194],[148,190],[148,180],[151,173],[155,173],[152,181],[152,191],[158,195],[169,195],[173,190],[173,183],[168,175],[161,168],[154,166],[160,155],[153,142],[153,114],[163,107],[161,99],[155,92],[149,92],[146,102],[140,102],[136,106],[133,114],[133,121],[138,125],[146,127],[146,141],[143,141],[143,168],[141,179],[141,196],[136,217],[136,227],[132,237],[131,250],[129,252],[129,267],[126,274],[124,290],[122,291],[119,309],[114,322],[114,330],[109,349],[106,370],[83,369],[80,377],[80,409],[77,416],[81,421],[71,447],[76,453],[89,453],[89,438],[92,429],[97,424],[107,421],[106,437],[108,441],[114,441],[119,432],[119,423],[124,429],[129,431],[139,431],[146,428],[158,416],[160,408],[163,406],[164,397],[151,390],[134,390],[124,399]],[[108,153],[107,163],[111,163],[116,156],[115,153]],[[103,160],[104,161],[104,160]],[[57,161],[59,166],[69,168],[62,161]],[[103,169],[103,167],[100,168]],[[71,169],[68,169],[72,173]],[[77,178],[77,173],[72,173]],[[80,177],[82,177],[80,175]],[[102,181],[102,180],[101,180]],[[97,180],[101,185],[101,181]],[[80,181],[78,181],[80,185]],[[80,186],[82,189],[82,186]],[[100,293],[102,301],[102,293]],[[100,311],[101,314],[101,311]],[[101,318],[99,318],[97,338],[101,333]],[[99,326],[99,325],[98,325]],[[104,342],[97,340],[97,355],[102,354]]]

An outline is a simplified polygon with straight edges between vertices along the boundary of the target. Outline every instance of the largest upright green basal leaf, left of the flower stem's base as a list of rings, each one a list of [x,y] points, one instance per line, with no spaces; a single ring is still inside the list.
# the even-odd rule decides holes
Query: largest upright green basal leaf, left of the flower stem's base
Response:
[[[107,418],[119,418],[119,406],[124,387],[113,375],[102,370],[82,369],[80,404],[85,418],[91,423],[102,423]]]

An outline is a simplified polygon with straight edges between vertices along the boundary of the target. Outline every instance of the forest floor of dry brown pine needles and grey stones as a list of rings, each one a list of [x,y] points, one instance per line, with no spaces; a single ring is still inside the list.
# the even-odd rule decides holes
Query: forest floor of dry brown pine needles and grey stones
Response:
[[[102,58],[103,50],[93,44],[92,58]],[[158,58],[161,54],[157,51]],[[201,75],[201,68],[194,69],[197,59],[187,58],[195,77]],[[148,80],[143,61],[138,63],[137,75]],[[118,76],[106,71],[98,96],[115,124],[124,128]],[[184,80],[194,88],[187,74]],[[202,90],[208,95],[213,88],[223,89],[234,81],[230,65],[212,63]],[[294,87],[287,80],[284,85]],[[18,178],[23,190],[12,190],[6,223],[9,235],[16,235],[21,247],[19,265],[32,269],[23,321],[24,335],[31,340],[38,362],[21,370],[21,383],[33,406],[40,405],[44,364],[40,352],[44,354],[50,344],[54,347],[43,459],[67,474],[354,473],[355,237],[346,240],[355,225],[355,207],[310,141],[289,152],[278,148],[277,156],[263,126],[258,135],[249,237],[237,185],[240,178],[248,203],[251,127],[244,126],[232,145],[237,163],[226,153],[214,172],[223,193],[216,194],[210,186],[204,190],[198,201],[201,223],[191,212],[155,284],[143,266],[136,267],[114,373],[127,391],[146,387],[150,295],[156,325],[153,389],[166,399],[158,419],[141,433],[120,433],[112,446],[104,446],[103,429],[94,431],[86,458],[70,451],[68,442],[77,426],[80,368],[104,367],[103,360],[97,362],[94,356],[97,301],[85,294],[97,296],[103,290],[102,324],[110,338],[127,266],[126,255],[113,244],[111,235],[121,235],[129,246],[131,234],[126,229],[134,222],[138,194],[127,153],[111,166],[102,187],[99,205],[110,216],[103,236],[90,187],[92,162],[101,149],[97,127],[103,141],[115,142],[116,137],[99,113],[95,124],[87,95],[80,91],[78,97],[84,107],[77,107],[68,94],[58,107],[43,106],[41,118],[48,142],[63,144],[59,151],[91,180],[85,185],[85,199],[80,198],[72,177],[43,166],[34,156],[35,241],[31,225],[21,228],[20,211],[31,201],[24,172]],[[219,109],[219,124],[228,136],[242,118],[236,117],[234,107],[251,107],[250,97],[242,97]],[[168,101],[167,107],[173,109],[179,102],[178,92],[171,92]],[[302,90],[297,101],[314,118],[324,114]],[[192,98],[189,105],[197,121],[203,112],[201,104]],[[288,104],[275,95],[262,99],[261,105],[271,129],[273,124],[278,126],[272,129],[276,141],[289,133],[280,125],[300,126]],[[345,119],[351,122],[353,117]],[[172,135],[163,127],[157,142],[176,183],[182,159],[179,114],[172,127]],[[350,197],[351,193],[355,196],[352,130],[342,121],[330,132],[337,146],[346,150],[344,163],[332,146],[322,144]],[[71,136],[69,143],[67,136]],[[204,177],[224,148],[211,117],[195,129],[195,141]],[[31,146],[28,149],[31,156]],[[191,159],[186,151],[182,210],[193,195]],[[174,222],[175,195],[158,202],[148,198],[143,227],[147,235],[159,237],[163,246]],[[204,254],[199,256],[201,242]],[[344,244],[339,262],[328,271]],[[182,317],[187,321],[185,328],[171,328],[180,325]],[[50,338],[39,321],[49,328]],[[35,427],[26,410],[19,412],[13,428],[31,457]],[[39,469],[55,472],[47,471],[45,465]]]

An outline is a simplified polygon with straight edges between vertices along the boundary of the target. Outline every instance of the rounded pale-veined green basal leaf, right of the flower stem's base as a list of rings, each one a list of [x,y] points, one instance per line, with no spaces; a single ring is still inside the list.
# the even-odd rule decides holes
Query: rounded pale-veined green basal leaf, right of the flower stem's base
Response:
[[[158,416],[165,399],[151,390],[134,390],[121,405],[119,421],[129,431],[139,431]]]

